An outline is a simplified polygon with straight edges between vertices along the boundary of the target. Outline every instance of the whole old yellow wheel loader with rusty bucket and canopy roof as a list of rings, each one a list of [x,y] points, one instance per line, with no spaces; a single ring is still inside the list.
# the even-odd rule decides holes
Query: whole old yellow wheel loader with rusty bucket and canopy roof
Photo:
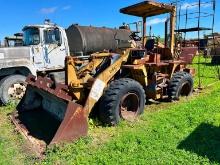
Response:
[[[35,152],[87,136],[88,116],[95,105],[103,123],[117,125],[143,113],[146,99],[178,99],[192,93],[194,69],[173,58],[175,7],[144,1],[120,12],[143,18],[141,47],[132,39],[118,40],[120,48],[91,54],[87,62],[69,56],[65,83],[49,77],[27,78],[25,96],[11,118]],[[171,16],[171,37],[169,47],[161,48],[146,40],[146,17],[164,13]]]

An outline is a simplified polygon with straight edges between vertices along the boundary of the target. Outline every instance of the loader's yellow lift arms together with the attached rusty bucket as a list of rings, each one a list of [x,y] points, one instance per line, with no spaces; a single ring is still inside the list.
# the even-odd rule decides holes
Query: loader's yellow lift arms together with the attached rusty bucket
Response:
[[[127,61],[130,55],[130,49],[121,50],[120,53],[120,57],[96,77],[90,75],[86,66],[78,73],[74,65],[74,58],[67,57],[66,85],[56,84],[54,87],[53,82],[48,78],[38,77],[36,79],[31,75],[27,78],[27,92],[17,106],[17,111],[11,115],[11,119],[16,125],[17,130],[30,141],[37,154],[42,154],[47,145],[72,141],[87,135],[88,116],[95,103],[102,96],[109,81],[121,69],[121,65]],[[93,59],[87,64],[93,67],[89,67],[89,70],[95,69],[105,57],[111,55],[111,53],[96,53],[93,55]],[[85,73],[83,74],[83,72]],[[83,77],[80,77],[80,75],[83,75]],[[93,80],[91,86],[88,86],[89,79]],[[86,88],[90,91],[88,94],[85,94]],[[86,101],[84,106],[82,106],[82,100],[85,98]],[[41,136],[42,132],[31,134],[31,132],[39,131],[31,130],[32,125],[39,124],[33,123],[36,121],[35,118],[39,117],[38,113],[42,113],[43,115],[41,116],[41,120],[43,118],[48,120],[51,117],[46,116],[49,115],[53,116],[53,120],[57,121],[56,123],[60,123],[55,128],[50,128],[54,127],[54,125],[48,126],[48,130],[52,129],[54,132],[47,135],[50,136],[46,137],[47,140],[44,140],[45,135]],[[30,114],[30,116],[22,117],[27,114]],[[32,123],[28,123],[25,120],[29,120]],[[46,144],[44,141],[46,141]]]

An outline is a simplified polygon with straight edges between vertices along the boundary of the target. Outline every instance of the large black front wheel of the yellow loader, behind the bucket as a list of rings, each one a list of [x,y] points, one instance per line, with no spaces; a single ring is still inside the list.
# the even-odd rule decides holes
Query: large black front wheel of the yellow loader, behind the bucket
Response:
[[[133,121],[143,113],[145,100],[145,91],[137,81],[115,80],[100,100],[99,118],[107,125],[117,125],[121,119]]]

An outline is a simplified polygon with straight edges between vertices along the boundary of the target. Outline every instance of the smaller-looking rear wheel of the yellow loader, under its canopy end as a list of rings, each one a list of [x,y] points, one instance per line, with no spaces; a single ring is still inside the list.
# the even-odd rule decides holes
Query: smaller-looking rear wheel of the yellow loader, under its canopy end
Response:
[[[180,96],[189,96],[193,91],[193,78],[187,72],[176,72],[168,86],[168,96],[172,100],[179,100]]]

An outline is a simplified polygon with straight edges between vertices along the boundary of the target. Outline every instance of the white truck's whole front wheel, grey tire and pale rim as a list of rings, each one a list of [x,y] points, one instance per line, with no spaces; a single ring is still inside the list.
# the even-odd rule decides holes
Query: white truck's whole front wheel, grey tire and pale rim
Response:
[[[0,81],[0,102],[3,105],[9,102],[19,101],[26,90],[26,77],[22,75],[11,75]]]

